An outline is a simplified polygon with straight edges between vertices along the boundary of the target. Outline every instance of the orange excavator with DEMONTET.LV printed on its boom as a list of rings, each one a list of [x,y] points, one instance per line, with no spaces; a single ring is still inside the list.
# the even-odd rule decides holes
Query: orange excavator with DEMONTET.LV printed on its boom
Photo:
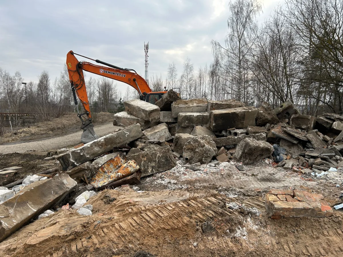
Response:
[[[76,59],[75,55],[93,60],[97,63],[101,63],[108,67],[99,66],[85,61],[79,62],[78,59]],[[152,92],[149,85],[146,83],[145,79],[142,78],[139,74],[137,74],[135,70],[120,68],[118,66],[100,60],[94,60],[82,56],[81,54],[74,53],[73,51],[70,51],[67,54],[67,68],[69,73],[71,90],[73,92],[74,103],[76,105],[76,109],[78,110],[78,117],[82,122],[81,129],[83,129],[83,133],[81,136],[81,142],[83,143],[89,143],[92,142],[94,139],[99,138],[93,129],[94,125],[92,123],[92,114],[88,102],[83,71],[88,71],[100,76],[124,82],[138,91],[141,100],[150,102],[152,104],[155,104],[155,102],[161,99],[163,94],[167,92]],[[82,113],[80,113],[79,109],[77,108],[78,100],[76,99],[76,96],[78,96],[84,108],[84,112]]]

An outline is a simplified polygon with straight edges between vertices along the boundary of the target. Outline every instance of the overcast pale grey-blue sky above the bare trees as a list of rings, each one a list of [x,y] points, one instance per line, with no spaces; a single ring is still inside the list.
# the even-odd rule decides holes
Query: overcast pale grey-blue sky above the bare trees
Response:
[[[173,61],[180,75],[187,57],[196,69],[211,63],[210,41],[223,42],[228,33],[228,2],[1,0],[0,67],[11,74],[20,71],[26,82],[37,81],[43,70],[53,80],[73,50],[144,77],[144,41],[149,41],[149,75],[165,78]],[[282,1],[261,2],[260,22]],[[128,87],[118,86],[122,93]]]

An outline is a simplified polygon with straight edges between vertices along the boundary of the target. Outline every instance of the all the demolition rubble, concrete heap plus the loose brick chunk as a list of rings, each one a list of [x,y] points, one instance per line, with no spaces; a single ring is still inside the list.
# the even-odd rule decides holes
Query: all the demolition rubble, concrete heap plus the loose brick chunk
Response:
[[[176,166],[198,171],[232,160],[242,170],[243,164],[263,161],[312,177],[343,167],[343,115],[301,115],[288,101],[273,110],[267,103],[259,108],[246,107],[234,99],[182,100],[173,90],[155,105],[134,99],[124,106],[125,111],[114,114],[113,133],[56,157],[63,174],[45,175],[48,179],[43,181],[39,174],[33,175],[21,185],[9,186],[12,190],[0,190],[0,240],[29,220],[49,215],[48,208],[67,195],[68,205],[62,208],[68,209],[70,204],[80,215],[92,215],[92,206],[86,201],[95,191],[140,184],[141,178]],[[52,189],[53,197],[48,202],[37,199],[32,204],[36,211],[28,210],[26,199],[35,201],[30,196],[35,191],[49,191],[47,188]],[[320,209],[327,206],[322,198],[300,203],[300,195],[271,192],[266,203],[268,213],[272,218],[331,215],[330,210]],[[288,205],[294,209],[313,205],[314,209],[299,214],[288,211]],[[14,208],[22,208],[22,212]]]

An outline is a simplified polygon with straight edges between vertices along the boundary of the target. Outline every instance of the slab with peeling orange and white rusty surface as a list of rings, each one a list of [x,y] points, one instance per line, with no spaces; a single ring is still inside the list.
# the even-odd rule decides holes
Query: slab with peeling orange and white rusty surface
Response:
[[[140,169],[134,160],[124,163],[125,161],[121,157],[116,156],[105,162],[92,178],[91,185],[99,188],[125,178]]]

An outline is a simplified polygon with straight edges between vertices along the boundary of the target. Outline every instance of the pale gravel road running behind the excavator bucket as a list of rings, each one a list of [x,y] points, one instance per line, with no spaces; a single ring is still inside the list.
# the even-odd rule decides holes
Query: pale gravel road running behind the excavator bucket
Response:
[[[95,132],[98,136],[105,136],[108,133],[113,132],[113,124],[112,123],[105,123],[95,127]],[[44,151],[44,150],[52,150],[52,149],[61,149],[66,146],[70,145],[77,145],[80,142],[82,130],[65,135],[59,136],[54,138],[48,138],[43,140],[37,140],[34,142],[27,142],[27,143],[19,143],[13,145],[0,145],[0,153],[1,154],[10,154],[12,152],[26,152],[26,151]],[[43,150],[44,149],[44,150]]]

